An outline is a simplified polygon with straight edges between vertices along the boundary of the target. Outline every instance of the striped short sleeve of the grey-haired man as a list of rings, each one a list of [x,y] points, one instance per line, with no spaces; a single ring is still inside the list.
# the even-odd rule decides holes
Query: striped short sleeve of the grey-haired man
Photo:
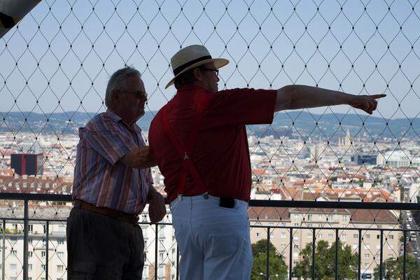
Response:
[[[120,158],[137,146],[134,141],[118,130],[85,130],[83,134],[85,142],[94,151],[115,165]]]

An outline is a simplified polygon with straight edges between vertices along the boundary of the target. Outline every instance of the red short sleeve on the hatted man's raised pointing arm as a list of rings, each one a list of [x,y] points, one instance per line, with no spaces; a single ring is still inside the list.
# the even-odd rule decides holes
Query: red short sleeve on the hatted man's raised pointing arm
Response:
[[[212,127],[272,123],[276,97],[276,90],[221,90],[207,105],[206,123]]]

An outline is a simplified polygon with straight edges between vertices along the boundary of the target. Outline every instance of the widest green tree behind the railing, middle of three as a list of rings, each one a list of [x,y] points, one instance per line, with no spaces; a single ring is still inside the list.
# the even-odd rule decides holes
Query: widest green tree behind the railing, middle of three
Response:
[[[358,253],[351,253],[349,245],[338,241],[338,279],[356,279]],[[310,279],[312,276],[312,244],[309,243],[300,252],[302,260],[295,265],[295,276]],[[314,279],[335,278],[335,242],[320,240],[315,246]]]

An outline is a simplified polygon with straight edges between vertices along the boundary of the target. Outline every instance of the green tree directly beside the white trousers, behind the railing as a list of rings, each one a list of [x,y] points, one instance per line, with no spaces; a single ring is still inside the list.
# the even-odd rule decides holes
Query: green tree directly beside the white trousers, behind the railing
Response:
[[[276,279],[285,279],[287,276],[287,265],[283,257],[277,253],[276,248],[269,243],[269,275],[278,274]],[[266,276],[261,276],[260,273],[267,274],[267,239],[262,239],[255,244],[252,244],[252,280],[266,279]]]

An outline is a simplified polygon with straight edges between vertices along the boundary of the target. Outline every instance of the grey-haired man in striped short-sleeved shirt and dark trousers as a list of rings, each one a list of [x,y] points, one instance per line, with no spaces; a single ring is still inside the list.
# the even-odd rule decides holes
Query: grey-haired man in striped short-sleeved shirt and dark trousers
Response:
[[[151,223],[166,215],[153,188],[155,165],[136,122],[147,94],[140,73],[126,67],[106,87],[105,113],[79,129],[75,205],[67,220],[68,279],[141,279],[144,239],[137,224],[146,203]]]

